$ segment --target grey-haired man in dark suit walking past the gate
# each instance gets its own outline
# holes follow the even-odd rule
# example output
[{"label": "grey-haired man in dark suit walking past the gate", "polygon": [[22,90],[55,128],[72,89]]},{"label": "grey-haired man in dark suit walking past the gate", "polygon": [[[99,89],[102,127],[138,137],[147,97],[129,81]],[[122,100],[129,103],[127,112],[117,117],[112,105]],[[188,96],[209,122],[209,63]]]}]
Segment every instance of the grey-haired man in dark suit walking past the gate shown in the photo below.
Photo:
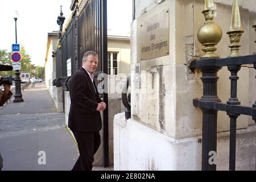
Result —
[{"label": "grey-haired man in dark suit walking past the gate", "polygon": [[85,52],[82,58],[82,68],[75,72],[69,80],[71,106],[68,127],[76,138],[80,153],[72,171],[91,171],[93,155],[101,143],[100,111],[106,109],[106,104],[99,97],[93,82],[93,73],[96,72],[97,66],[97,53]]}]

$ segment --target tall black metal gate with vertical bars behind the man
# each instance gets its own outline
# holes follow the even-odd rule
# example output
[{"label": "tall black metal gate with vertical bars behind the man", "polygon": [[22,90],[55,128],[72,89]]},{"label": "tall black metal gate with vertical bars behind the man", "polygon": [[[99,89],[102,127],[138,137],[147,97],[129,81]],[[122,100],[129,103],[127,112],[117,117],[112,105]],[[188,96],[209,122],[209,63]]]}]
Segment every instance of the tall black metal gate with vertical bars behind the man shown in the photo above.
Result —
[{"label": "tall black metal gate with vertical bars behind the man", "polygon": [[[56,86],[68,90],[67,82],[71,74],[80,69],[82,56],[86,51],[98,53],[100,65],[98,73],[107,73],[107,1],[105,0],[77,0],[72,1],[72,15],[68,19],[68,26],[61,32],[65,17],[62,12],[57,23],[60,25],[59,43],[56,49]],[[67,60],[71,59],[67,67]],[[70,74],[71,73],[71,74]],[[96,74],[96,84],[97,82]],[[108,90],[108,80],[104,81],[104,90]],[[108,132],[108,93],[101,94],[107,107],[103,114],[104,123],[104,166],[109,166],[109,132]],[[64,101],[64,100],[63,100]]]}]

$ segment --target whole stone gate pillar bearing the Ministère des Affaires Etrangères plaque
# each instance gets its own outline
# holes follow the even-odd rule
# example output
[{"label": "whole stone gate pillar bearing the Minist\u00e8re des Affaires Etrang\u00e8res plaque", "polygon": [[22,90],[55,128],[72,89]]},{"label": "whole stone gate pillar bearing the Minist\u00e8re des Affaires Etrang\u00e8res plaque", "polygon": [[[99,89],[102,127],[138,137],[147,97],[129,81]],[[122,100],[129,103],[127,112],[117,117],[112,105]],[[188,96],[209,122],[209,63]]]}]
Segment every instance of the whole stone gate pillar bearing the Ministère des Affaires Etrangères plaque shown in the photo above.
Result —
[{"label": "whole stone gate pillar bearing the Minist\u00e8re des Affaires Etrang\u00e8res plaque", "polygon": [[[228,31],[230,19],[223,17],[230,17],[232,3],[217,2],[214,21]],[[135,1],[135,20],[131,24],[131,118],[126,120],[125,113],[114,118],[115,170],[201,170],[203,115],[192,100],[203,95],[203,83],[201,73],[192,73],[189,64],[202,53],[197,31],[205,22],[203,9],[204,1],[200,0]],[[242,9],[241,16],[247,24],[243,26],[247,27],[245,31],[251,34],[254,30],[250,22],[255,14]],[[245,37],[241,44],[253,45],[249,34]],[[218,55],[228,56],[228,45],[226,35],[218,44]],[[252,50],[241,49],[241,53],[249,55]],[[219,77],[226,74],[228,70],[224,69]],[[249,80],[255,78],[250,77],[248,68],[242,68],[240,74],[241,80],[245,80],[239,83],[243,88],[240,100],[248,104]],[[228,100],[230,93],[226,79],[218,81],[218,93],[223,100]],[[248,117],[240,118],[237,129],[245,130],[237,140],[250,140],[248,146],[240,147],[247,147],[247,152],[254,154],[256,127],[250,123]],[[228,170],[229,158],[225,155],[229,148],[224,147],[229,145],[229,133],[225,132],[228,125],[228,115],[218,114],[217,169]],[[237,165],[241,169],[246,165],[247,169],[253,168],[250,160],[255,161],[255,155],[244,159],[249,152],[243,151],[237,156],[246,164]]]}]

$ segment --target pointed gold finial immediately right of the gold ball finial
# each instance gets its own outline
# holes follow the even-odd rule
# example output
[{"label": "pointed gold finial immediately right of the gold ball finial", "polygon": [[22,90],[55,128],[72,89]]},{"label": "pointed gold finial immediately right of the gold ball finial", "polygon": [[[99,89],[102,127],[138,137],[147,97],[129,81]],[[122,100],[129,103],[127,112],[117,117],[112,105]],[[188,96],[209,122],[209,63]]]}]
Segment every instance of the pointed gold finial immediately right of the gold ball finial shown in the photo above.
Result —
[{"label": "pointed gold finial immediately right of the gold ball finial", "polygon": [[240,56],[239,48],[241,36],[245,32],[243,30],[242,24],[241,24],[241,18],[240,18],[240,10],[238,5],[238,0],[233,0],[233,7],[232,7],[232,15],[230,19],[230,27],[227,34],[229,35],[230,39],[230,49],[231,53],[229,57],[237,57]]}]

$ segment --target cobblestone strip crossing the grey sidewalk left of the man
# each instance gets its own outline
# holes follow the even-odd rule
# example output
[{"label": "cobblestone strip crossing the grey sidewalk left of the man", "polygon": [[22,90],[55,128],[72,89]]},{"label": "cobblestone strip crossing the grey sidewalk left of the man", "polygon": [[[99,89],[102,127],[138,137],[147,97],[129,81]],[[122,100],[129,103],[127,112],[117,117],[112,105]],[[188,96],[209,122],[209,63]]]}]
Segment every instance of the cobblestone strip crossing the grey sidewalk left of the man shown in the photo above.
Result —
[{"label": "cobblestone strip crossing the grey sidewalk left of the man", "polygon": [[64,121],[64,113],[1,115],[0,138],[58,129]]}]

